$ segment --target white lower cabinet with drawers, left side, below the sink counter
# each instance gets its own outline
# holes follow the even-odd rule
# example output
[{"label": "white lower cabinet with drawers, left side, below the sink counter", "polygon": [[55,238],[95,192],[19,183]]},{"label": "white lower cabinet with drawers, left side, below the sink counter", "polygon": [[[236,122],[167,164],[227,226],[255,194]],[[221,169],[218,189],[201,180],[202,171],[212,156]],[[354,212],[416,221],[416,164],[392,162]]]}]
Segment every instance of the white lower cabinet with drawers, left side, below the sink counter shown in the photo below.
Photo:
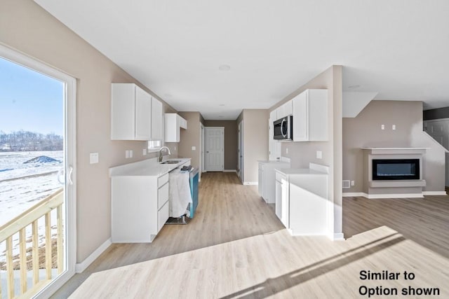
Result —
[{"label": "white lower cabinet with drawers, left side, below the sink counter", "polygon": [[168,219],[168,175],[112,177],[113,243],[153,241]]}]

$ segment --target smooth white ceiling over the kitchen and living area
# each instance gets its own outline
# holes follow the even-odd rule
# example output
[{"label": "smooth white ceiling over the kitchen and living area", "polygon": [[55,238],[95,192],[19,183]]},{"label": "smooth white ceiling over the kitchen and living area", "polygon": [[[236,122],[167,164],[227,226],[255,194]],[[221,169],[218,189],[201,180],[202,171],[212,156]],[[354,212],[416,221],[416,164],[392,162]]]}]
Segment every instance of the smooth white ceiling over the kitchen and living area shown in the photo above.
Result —
[{"label": "smooth white ceiling over the kitchen and living area", "polygon": [[344,66],[343,90],[449,106],[447,0],[35,1],[208,120],[267,109],[332,64]]}]

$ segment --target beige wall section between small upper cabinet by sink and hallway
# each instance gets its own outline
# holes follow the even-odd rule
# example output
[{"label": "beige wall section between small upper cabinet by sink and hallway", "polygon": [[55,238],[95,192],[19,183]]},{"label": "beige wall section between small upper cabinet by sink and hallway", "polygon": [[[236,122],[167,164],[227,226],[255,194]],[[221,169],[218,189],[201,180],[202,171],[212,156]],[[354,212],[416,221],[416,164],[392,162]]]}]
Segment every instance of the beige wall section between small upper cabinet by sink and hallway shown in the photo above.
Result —
[{"label": "beige wall section between small upper cabinet by sink and hallway", "polygon": [[[187,120],[187,130],[181,129],[177,155],[180,158],[192,158],[192,167],[199,167],[201,162],[200,123],[203,117],[199,112],[180,112],[180,116]],[[195,151],[192,151],[192,146],[195,146]]]}]

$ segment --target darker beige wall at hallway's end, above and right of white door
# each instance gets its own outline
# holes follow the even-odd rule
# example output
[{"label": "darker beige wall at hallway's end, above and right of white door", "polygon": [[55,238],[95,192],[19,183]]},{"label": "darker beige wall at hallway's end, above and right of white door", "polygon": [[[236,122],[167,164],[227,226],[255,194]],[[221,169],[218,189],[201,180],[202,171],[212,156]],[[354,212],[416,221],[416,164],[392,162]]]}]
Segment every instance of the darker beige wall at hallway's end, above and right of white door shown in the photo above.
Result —
[{"label": "darker beige wall at hallway's end, above and right of white door", "polygon": [[237,169],[237,124],[235,120],[205,120],[205,127],[225,127],[225,169]]}]

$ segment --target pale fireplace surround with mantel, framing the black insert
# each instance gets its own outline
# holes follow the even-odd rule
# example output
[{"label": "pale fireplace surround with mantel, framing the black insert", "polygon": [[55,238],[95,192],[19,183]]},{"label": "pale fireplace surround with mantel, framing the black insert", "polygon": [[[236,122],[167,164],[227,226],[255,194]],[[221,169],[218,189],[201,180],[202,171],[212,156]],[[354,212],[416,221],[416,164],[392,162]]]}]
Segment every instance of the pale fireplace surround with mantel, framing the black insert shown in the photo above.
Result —
[{"label": "pale fireplace surround with mantel, framing the black insert", "polygon": [[[364,184],[368,198],[422,197],[426,181],[422,179],[422,157],[427,148],[362,148],[365,165]],[[377,159],[418,159],[420,160],[420,179],[373,180],[373,160]],[[370,196],[371,195],[371,196]]]}]

